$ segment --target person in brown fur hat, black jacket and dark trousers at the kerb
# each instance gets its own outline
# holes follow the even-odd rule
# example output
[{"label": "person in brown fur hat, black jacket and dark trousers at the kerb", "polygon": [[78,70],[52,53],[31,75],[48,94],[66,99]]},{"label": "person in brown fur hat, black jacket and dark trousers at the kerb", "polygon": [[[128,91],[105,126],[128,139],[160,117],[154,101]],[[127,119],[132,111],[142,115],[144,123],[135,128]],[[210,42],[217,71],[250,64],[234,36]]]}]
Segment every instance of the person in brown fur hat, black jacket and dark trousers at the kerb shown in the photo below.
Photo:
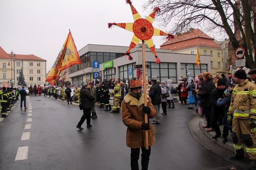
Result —
[{"label": "person in brown fur hat, black jacket and dark trousers at the kerb", "polygon": [[211,122],[212,115],[212,104],[211,104],[211,92],[215,89],[215,84],[212,80],[212,74],[209,72],[203,73],[203,86],[201,87],[201,91],[198,93],[198,96],[201,97],[201,106],[205,112],[205,116],[207,117],[207,125],[203,126],[203,128],[209,128],[207,132],[213,131],[213,126]]}]

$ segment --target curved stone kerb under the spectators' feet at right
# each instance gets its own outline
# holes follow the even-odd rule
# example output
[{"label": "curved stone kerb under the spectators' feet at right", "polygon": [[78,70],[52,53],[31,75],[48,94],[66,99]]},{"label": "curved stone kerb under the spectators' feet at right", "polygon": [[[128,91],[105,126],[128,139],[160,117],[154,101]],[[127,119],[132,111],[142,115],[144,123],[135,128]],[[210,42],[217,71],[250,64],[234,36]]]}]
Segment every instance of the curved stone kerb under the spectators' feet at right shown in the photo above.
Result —
[{"label": "curved stone kerb under the spectators' feet at right", "polygon": [[[215,132],[214,132],[214,131],[213,131],[213,132],[207,132],[207,131],[206,131],[207,129],[205,129],[205,128],[202,127],[202,126],[205,126],[205,125],[206,125],[206,124],[205,124],[204,120],[200,120],[199,126],[200,126],[202,132],[203,132],[210,140],[212,140],[213,142],[217,143],[219,146],[221,146],[221,147],[223,147],[223,148],[225,148],[225,149],[227,149],[227,150],[229,150],[229,151],[231,151],[231,152],[234,152],[234,147],[233,147],[233,143],[232,143],[232,142],[229,142],[229,141],[228,141],[228,142],[226,142],[226,143],[223,143],[223,142],[222,142],[222,136],[217,137],[216,139],[212,139],[212,137],[215,135]],[[249,159],[248,154],[247,154],[245,148],[244,148],[244,158]]]}]

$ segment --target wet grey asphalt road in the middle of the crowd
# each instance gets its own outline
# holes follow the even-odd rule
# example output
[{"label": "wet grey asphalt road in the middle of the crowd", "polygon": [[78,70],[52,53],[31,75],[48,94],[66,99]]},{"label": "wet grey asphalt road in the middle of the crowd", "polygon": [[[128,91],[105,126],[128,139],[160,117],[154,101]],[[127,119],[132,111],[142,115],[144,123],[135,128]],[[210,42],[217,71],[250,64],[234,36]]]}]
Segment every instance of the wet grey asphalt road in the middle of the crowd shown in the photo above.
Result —
[{"label": "wet grey asphalt road in the middle of the crowd", "polygon": [[[78,105],[30,96],[27,107],[20,110],[18,102],[0,123],[0,169],[130,169],[130,148],[120,113],[96,107],[98,119],[91,120],[93,127],[86,128],[85,122],[84,130],[79,130],[75,126],[83,113]],[[154,125],[156,142],[149,169],[246,169],[248,161],[228,160],[233,153],[207,139],[199,125],[190,122],[197,114],[186,108],[175,102],[175,109],[168,109],[160,124]],[[26,124],[31,129],[25,129]],[[24,132],[30,132],[29,139],[21,140]],[[15,160],[18,148],[24,146],[27,159]]]}]

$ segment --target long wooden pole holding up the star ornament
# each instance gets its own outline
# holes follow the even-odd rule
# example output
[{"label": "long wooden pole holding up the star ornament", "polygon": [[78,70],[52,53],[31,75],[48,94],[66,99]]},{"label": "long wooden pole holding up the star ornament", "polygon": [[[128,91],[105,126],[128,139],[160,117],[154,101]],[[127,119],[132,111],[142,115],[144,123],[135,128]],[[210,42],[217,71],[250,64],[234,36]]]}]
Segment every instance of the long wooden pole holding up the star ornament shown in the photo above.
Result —
[{"label": "long wooden pole holding up the star ornament", "polygon": [[[145,42],[142,40],[142,70],[143,70],[143,94],[144,94],[144,106],[147,106],[147,85],[146,85],[146,60],[145,60]],[[147,114],[145,113],[145,123],[147,123]],[[148,130],[145,131],[145,148],[148,149]]]}]

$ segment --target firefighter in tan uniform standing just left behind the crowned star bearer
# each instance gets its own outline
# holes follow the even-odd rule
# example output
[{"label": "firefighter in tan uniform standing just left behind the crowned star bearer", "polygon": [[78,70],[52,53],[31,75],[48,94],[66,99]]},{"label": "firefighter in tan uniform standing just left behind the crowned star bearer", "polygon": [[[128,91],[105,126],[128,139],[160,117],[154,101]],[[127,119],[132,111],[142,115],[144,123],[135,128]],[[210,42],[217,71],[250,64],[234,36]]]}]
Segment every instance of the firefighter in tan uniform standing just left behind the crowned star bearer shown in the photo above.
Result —
[{"label": "firefighter in tan uniform standing just left behind the crowned star bearer", "polygon": [[114,96],[114,105],[113,105],[113,110],[110,113],[120,113],[120,106],[119,106],[119,101],[121,98],[121,86],[119,84],[118,79],[114,81],[115,87],[113,89],[113,92],[111,95]]}]

